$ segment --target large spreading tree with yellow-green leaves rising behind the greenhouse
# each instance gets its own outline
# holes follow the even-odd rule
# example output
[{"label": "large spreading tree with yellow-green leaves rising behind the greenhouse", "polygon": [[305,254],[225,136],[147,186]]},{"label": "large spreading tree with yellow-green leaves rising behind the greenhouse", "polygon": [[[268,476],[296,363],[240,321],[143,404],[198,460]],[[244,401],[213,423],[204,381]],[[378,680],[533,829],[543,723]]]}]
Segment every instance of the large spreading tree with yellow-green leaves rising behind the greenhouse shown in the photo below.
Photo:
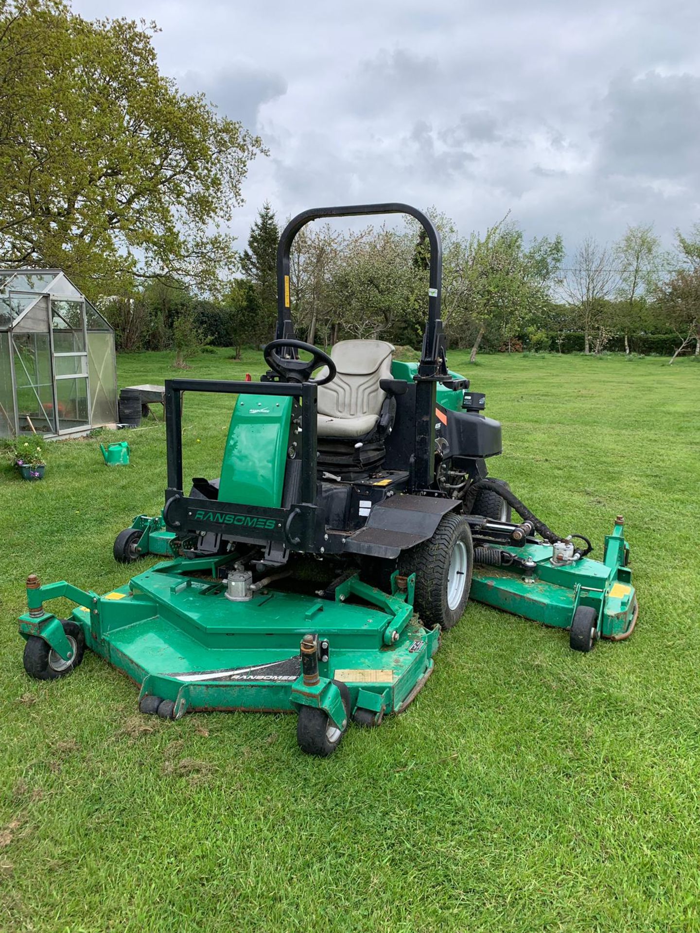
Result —
[{"label": "large spreading tree with yellow-green leaves rising behind the greenhouse", "polygon": [[0,0],[0,261],[94,292],[134,276],[217,285],[260,140],[161,75],[154,25]]}]

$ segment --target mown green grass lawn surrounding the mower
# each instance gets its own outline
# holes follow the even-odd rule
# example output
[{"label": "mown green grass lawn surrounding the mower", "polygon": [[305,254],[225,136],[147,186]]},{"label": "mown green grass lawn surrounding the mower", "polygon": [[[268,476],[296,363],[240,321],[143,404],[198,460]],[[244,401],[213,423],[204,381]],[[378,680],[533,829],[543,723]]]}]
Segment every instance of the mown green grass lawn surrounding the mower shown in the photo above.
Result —
[{"label": "mown green grass lawn surrounding the mower", "polygon": [[[259,355],[189,375],[258,375]],[[122,355],[161,383],[172,355]],[[469,604],[408,712],[301,754],[291,716],[165,723],[90,652],[29,680],[24,578],[105,592],[112,542],[161,508],[164,428],[50,445],[0,468],[0,930],[700,929],[700,366],[609,356],[450,357],[487,393],[492,472],[602,557],[623,513],[640,613],[590,655]],[[185,476],[218,476],[231,399],[186,397]],[[103,438],[104,440],[105,438]],[[153,559],[154,560],[154,559]],[[140,568],[145,568],[141,564]]]}]

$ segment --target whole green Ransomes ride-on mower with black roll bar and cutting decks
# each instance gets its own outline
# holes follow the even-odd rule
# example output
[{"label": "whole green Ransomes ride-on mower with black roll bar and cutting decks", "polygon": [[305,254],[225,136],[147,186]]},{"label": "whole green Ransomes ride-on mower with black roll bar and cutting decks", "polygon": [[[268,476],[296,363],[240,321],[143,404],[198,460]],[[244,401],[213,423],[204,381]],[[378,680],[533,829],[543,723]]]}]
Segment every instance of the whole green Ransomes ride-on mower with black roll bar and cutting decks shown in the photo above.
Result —
[{"label": "whole green Ransomes ride-on mower with black roll bar and cutting decks", "polygon": [[[385,341],[341,341],[327,355],[296,340],[295,235],[319,217],[389,213],[415,217],[430,244],[420,362],[393,359]],[[301,749],[326,756],[351,720],[378,726],[406,709],[469,595],[568,629],[580,651],[629,635],[637,600],[622,518],[598,563],[586,538],[555,535],[487,478],[501,429],[483,415],[483,395],[447,369],[441,261],[438,231],[407,204],[294,217],[278,247],[277,332],[259,383],[166,383],[165,506],[136,518],[115,556],[170,559],[104,595],[28,578],[27,673],[66,675],[91,648],[139,685],[143,713],[296,711]],[[220,477],[196,478],[189,492],[185,392],[227,394],[232,412]],[[44,608],[56,597],[76,604],[69,619]]]}]

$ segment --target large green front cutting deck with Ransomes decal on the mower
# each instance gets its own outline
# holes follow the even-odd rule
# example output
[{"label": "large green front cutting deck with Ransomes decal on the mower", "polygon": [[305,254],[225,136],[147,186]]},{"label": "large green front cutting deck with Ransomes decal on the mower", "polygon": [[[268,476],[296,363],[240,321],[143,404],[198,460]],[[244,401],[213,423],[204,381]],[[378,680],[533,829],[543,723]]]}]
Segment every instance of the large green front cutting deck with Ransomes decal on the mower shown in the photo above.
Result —
[{"label": "large green front cutting deck with Ransomes decal on the mower", "polygon": [[[193,710],[307,705],[323,709],[344,730],[348,714],[339,683],[349,691],[349,713],[373,725],[385,712],[404,709],[430,675],[439,633],[413,617],[413,578],[399,578],[404,590],[395,586],[393,595],[352,576],[332,600],[262,588],[231,605],[217,579],[227,563],[231,558],[157,564],[104,596],[64,582],[29,588],[21,634],[38,635],[69,660],[63,626],[42,606],[67,596],[79,604],[70,620],[86,647],[139,684],[141,700],[173,703],[165,707],[173,718]],[[301,671],[307,634],[317,645],[315,676]]]}]

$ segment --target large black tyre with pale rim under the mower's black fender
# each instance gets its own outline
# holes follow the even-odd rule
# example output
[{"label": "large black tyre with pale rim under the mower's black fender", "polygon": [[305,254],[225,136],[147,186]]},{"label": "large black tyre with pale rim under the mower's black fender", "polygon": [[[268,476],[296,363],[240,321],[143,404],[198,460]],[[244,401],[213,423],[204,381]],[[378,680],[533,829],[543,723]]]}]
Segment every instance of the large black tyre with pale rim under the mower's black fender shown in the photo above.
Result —
[{"label": "large black tyre with pale rim under the mower's black fender", "polygon": [[415,574],[415,611],[427,629],[451,629],[469,600],[474,547],[469,522],[444,515],[435,534],[399,558],[402,574]]}]

